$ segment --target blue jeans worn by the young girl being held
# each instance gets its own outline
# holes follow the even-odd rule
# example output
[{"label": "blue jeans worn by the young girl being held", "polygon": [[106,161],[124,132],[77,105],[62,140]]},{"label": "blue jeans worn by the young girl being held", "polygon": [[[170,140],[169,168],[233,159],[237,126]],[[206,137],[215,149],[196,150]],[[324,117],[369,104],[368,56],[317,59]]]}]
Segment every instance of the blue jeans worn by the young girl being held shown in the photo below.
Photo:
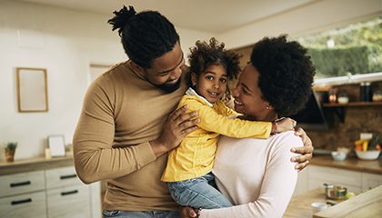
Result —
[{"label": "blue jeans worn by the young girl being held", "polygon": [[232,204],[216,188],[215,175],[207,173],[202,177],[167,183],[176,203],[193,208],[221,208]]}]

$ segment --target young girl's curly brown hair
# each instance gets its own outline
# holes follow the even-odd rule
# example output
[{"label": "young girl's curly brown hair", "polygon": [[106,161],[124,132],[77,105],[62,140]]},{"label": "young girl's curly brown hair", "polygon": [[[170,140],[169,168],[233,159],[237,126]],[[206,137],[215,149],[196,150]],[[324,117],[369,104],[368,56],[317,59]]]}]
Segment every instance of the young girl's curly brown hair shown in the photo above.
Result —
[{"label": "young girl's curly brown hair", "polygon": [[[195,73],[197,77],[206,71],[210,65],[223,65],[226,68],[228,80],[237,79],[241,72],[240,58],[243,54],[236,53],[234,50],[225,49],[225,44],[212,37],[209,44],[198,40],[195,47],[190,48],[188,54],[188,63],[190,64],[190,72],[186,74],[186,81],[192,86],[191,74]],[[226,99],[230,99],[231,92],[228,84],[226,85]]]}]

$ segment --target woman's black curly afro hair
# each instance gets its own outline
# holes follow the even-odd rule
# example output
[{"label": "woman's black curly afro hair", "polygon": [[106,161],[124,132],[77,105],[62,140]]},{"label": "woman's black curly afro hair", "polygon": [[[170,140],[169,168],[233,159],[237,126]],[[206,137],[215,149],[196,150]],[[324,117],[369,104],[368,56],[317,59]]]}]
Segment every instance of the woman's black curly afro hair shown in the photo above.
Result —
[{"label": "woman's black curly afro hair", "polygon": [[258,87],[262,98],[275,107],[279,115],[297,114],[305,107],[316,74],[307,48],[287,35],[265,37],[251,54],[251,63],[259,73]]}]

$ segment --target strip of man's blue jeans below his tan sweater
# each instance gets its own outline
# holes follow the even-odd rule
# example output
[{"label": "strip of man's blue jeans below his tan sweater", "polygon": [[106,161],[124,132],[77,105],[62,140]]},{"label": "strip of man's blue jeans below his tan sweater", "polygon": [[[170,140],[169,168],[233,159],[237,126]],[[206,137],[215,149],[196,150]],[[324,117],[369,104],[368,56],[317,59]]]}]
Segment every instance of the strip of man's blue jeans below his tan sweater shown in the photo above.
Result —
[{"label": "strip of man's blue jeans below his tan sweater", "polygon": [[177,211],[151,211],[151,212],[131,212],[131,211],[106,211],[102,213],[103,218],[180,218]]}]

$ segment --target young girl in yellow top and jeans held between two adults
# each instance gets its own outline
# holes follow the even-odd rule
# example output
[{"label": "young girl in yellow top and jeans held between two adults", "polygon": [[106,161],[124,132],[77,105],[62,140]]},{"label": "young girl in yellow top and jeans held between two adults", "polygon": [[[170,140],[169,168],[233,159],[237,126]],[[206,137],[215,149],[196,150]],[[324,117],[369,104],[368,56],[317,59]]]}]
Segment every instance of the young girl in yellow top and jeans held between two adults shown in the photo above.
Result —
[{"label": "young girl in yellow top and jeans held between two adults", "polygon": [[229,97],[227,81],[237,78],[240,72],[241,54],[226,50],[211,38],[196,42],[188,55],[192,73],[186,74],[190,88],[182,97],[178,108],[188,104],[188,111],[197,111],[201,122],[198,129],[186,135],[182,143],[168,153],[162,181],[168,183],[176,203],[193,208],[220,208],[232,206],[226,197],[216,190],[211,173],[219,134],[237,138],[263,138],[293,130],[291,119],[274,122],[251,122],[228,119],[237,115],[226,107],[222,99]]}]

